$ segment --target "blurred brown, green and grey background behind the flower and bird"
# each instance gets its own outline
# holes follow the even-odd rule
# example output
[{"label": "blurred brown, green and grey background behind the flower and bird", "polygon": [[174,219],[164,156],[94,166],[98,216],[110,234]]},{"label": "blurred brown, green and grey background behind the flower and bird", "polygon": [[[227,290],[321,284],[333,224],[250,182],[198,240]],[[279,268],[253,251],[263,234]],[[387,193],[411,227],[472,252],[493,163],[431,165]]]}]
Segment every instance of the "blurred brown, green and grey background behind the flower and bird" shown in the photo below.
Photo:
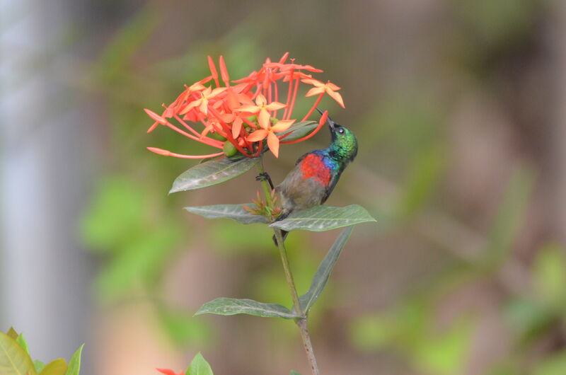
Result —
[{"label": "blurred brown, green and grey background behind the flower and bird", "polygon": [[[167,195],[206,153],[143,108],[224,55],[324,70],[359,139],[329,204],[362,224],[311,314],[323,374],[566,374],[566,2],[0,2],[0,328],[84,374],[308,373],[296,328],[192,318],[218,296],[290,304],[270,233],[182,207],[249,202],[253,173]],[[267,168],[282,180],[323,132]],[[292,233],[299,289],[337,231]]]}]

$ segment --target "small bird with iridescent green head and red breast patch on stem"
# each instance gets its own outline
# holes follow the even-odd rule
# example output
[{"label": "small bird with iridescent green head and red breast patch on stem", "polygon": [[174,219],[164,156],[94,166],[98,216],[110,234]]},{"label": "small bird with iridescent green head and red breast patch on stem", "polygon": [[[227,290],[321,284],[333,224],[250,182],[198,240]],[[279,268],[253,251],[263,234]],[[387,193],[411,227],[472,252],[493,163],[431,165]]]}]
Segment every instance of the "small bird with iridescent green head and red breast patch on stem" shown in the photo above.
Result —
[{"label": "small bird with iridescent green head and red breast patch on stem", "polygon": [[[282,208],[275,221],[326,202],[346,166],[357,156],[358,142],[352,130],[337,124],[330,117],[326,122],[330,128],[330,146],[301,156],[287,177],[275,188],[275,196]],[[267,178],[273,188],[269,176]],[[283,239],[287,234],[287,231],[282,231]],[[277,245],[275,236],[273,241]]]}]

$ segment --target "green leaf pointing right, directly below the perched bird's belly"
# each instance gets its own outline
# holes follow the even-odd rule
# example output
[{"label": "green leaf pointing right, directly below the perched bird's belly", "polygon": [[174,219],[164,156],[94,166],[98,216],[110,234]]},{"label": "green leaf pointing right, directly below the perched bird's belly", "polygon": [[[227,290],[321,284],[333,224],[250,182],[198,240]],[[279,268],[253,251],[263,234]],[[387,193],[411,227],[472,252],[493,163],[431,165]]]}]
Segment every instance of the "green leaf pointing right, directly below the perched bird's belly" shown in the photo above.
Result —
[{"label": "green leaf pointing right, directly below the perched bird's belly", "polygon": [[376,219],[371,217],[364,207],[357,204],[350,204],[350,206],[346,207],[320,205],[294,212],[287,219],[275,221],[270,227],[283,229],[284,231],[304,229],[306,231],[321,232],[366,221],[376,221]]}]

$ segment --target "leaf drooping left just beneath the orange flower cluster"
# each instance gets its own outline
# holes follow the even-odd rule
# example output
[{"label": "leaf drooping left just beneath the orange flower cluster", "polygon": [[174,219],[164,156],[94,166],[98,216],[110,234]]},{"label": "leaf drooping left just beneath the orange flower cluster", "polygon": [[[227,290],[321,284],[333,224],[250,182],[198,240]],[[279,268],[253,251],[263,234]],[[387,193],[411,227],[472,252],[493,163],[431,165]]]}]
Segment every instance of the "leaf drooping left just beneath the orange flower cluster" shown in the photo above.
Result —
[{"label": "leaf drooping left just beneath the orange flower cluster", "polygon": [[246,173],[259,161],[260,158],[243,158],[238,161],[221,158],[197,164],[173,181],[173,188],[169,190],[169,194],[224,183],[242,173]]}]

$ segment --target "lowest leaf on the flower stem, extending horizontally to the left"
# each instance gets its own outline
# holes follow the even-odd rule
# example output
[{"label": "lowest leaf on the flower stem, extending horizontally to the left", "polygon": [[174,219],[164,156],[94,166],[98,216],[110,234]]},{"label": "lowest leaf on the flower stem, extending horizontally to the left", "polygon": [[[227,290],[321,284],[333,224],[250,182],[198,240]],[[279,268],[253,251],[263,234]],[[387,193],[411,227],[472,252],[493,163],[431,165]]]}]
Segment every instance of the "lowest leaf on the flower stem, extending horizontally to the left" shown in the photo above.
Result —
[{"label": "lowest leaf on the flower stem, extending horizontally to the left", "polygon": [[195,316],[205,313],[216,315],[236,315],[248,314],[254,316],[263,316],[267,318],[284,318],[294,319],[300,318],[289,310],[289,308],[279,304],[263,304],[253,299],[235,299],[235,298],[217,298],[206,304],[195,313]]}]

